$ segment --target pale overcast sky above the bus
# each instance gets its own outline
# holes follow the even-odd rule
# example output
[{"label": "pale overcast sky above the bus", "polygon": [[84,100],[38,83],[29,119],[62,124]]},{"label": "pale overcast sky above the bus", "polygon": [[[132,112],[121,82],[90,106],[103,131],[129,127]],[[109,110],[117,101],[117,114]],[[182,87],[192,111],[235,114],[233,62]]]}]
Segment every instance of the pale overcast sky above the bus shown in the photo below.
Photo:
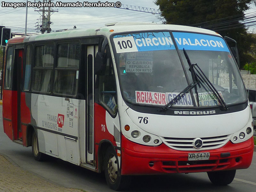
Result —
[{"label": "pale overcast sky above the bus", "polygon": [[[34,2],[35,0],[28,0]],[[41,0],[43,2],[43,0]],[[59,0],[52,1],[53,3],[58,2]],[[72,3],[72,2],[84,2],[86,0],[62,0],[61,2]],[[102,0],[101,2],[121,2],[122,4],[132,4],[141,7],[156,8],[153,0],[138,0],[138,1],[128,1],[128,0]],[[6,3],[18,3],[26,2],[26,0],[5,0]],[[38,0],[36,0],[38,2]],[[98,1],[88,1],[88,2],[98,2]],[[41,8],[42,9],[42,8]],[[105,23],[115,22],[115,21],[143,21],[143,22],[156,22],[161,23],[158,19],[159,15],[124,10],[112,7],[52,7],[53,10],[58,10],[51,15],[51,25],[52,30],[63,29],[63,28],[73,28],[76,25],[76,28],[94,28],[104,26]],[[36,25],[40,18],[40,13],[35,10],[38,8],[29,7],[28,8],[28,33],[36,33]],[[255,11],[255,6],[251,6],[250,11]],[[12,32],[24,32],[25,31],[25,16],[26,8],[8,8],[0,7],[0,25],[12,28]],[[40,24],[40,22],[39,22]],[[250,28],[250,31],[254,31],[254,27]],[[38,32],[40,32],[38,30]]]}]

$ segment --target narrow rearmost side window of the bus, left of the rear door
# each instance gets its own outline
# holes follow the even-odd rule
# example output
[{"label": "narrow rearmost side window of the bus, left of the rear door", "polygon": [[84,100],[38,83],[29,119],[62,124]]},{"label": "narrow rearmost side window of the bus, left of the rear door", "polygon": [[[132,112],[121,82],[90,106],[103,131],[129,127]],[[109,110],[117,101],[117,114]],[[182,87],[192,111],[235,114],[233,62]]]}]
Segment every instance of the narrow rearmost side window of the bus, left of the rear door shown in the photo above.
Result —
[{"label": "narrow rearmost side window of the bus, left of the rear door", "polygon": [[6,72],[5,72],[5,81],[4,88],[9,89],[11,87],[11,76],[12,76],[12,53],[13,47],[8,47],[6,53]]}]

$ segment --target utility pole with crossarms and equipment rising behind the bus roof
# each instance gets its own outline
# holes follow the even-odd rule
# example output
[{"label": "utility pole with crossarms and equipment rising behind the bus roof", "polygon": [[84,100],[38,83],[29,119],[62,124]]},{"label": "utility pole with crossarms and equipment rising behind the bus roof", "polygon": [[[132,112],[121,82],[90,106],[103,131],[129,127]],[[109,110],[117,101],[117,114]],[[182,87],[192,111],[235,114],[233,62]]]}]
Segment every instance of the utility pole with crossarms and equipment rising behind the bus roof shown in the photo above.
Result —
[{"label": "utility pole with crossarms and equipment rising behind the bus roof", "polygon": [[48,10],[45,10],[45,7],[43,7],[43,9],[35,10],[37,12],[42,12],[42,24],[37,25],[37,28],[40,29],[42,34],[44,34],[45,31],[47,31],[47,33],[50,33],[52,31],[51,24],[53,23],[51,22],[51,13],[59,12],[59,11],[51,10],[51,4],[50,4],[51,2],[52,2],[51,0],[43,0],[43,3],[49,3]]}]

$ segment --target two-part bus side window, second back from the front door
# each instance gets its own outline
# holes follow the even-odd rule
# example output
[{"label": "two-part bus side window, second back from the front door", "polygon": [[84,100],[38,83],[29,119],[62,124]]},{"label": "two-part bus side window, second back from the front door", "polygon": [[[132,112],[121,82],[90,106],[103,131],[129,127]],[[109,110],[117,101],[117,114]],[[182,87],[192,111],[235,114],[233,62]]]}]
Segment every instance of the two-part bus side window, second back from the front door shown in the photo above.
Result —
[{"label": "two-part bus side window, second back from the front door", "polygon": [[51,92],[54,45],[36,46],[36,63],[33,68],[32,91]]}]

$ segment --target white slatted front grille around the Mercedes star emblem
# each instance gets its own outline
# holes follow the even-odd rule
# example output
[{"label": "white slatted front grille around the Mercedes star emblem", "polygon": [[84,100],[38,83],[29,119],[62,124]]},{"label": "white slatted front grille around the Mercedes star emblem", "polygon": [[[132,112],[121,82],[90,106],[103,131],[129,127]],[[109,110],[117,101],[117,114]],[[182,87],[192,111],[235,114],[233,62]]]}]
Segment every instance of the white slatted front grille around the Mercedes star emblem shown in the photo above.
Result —
[{"label": "white slatted front grille around the Mercedes star emblem", "polygon": [[196,138],[172,138],[161,137],[162,141],[170,148],[181,151],[201,151],[217,149],[224,146],[231,138],[231,135],[222,135],[218,137],[204,137],[203,146],[200,149],[194,147]]}]

